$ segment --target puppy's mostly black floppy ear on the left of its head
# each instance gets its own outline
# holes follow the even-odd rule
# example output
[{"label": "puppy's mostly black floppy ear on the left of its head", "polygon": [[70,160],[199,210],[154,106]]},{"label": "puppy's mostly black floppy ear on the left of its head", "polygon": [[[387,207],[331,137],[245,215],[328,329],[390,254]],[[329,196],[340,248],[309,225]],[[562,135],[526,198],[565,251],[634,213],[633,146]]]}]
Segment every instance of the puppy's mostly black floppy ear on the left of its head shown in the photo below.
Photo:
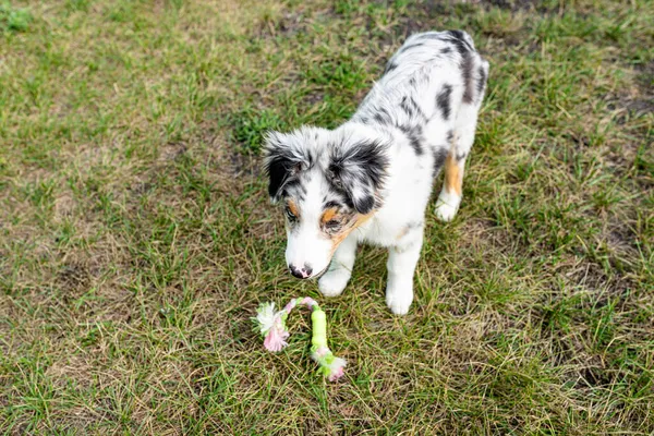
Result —
[{"label": "puppy's mostly black floppy ear on the left of its head", "polygon": [[283,187],[308,166],[298,138],[291,134],[268,132],[264,144],[264,169],[270,178],[268,194],[276,203]]}]

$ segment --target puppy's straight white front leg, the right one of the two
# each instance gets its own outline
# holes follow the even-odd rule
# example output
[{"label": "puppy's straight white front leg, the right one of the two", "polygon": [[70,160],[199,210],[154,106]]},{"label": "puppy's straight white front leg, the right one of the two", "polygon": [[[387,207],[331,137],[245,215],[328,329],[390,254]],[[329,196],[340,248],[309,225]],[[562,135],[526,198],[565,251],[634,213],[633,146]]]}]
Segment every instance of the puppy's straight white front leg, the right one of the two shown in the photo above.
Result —
[{"label": "puppy's straight white front leg, the right one of the two", "polygon": [[423,243],[423,225],[410,231],[388,250],[386,304],[396,315],[405,315],[413,302],[413,274]]}]

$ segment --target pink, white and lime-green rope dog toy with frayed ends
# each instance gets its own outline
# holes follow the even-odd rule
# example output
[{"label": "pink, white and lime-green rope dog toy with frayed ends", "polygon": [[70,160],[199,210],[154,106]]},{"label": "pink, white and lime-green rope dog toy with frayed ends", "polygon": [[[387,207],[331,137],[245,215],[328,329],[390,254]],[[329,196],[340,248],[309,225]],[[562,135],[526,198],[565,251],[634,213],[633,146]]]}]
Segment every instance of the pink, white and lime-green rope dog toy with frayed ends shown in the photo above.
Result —
[{"label": "pink, white and lime-green rope dog toy with frayed ends", "polygon": [[335,356],[327,347],[327,316],[314,299],[308,296],[293,299],[278,312],[275,311],[275,303],[259,305],[256,317],[252,319],[264,336],[264,347],[268,351],[277,352],[288,346],[286,340],[290,334],[286,328],[286,319],[298,304],[304,304],[312,310],[311,358],[319,365],[318,374],[323,374],[329,378],[329,382],[334,382],[343,375],[343,367],[347,363],[343,359]]}]

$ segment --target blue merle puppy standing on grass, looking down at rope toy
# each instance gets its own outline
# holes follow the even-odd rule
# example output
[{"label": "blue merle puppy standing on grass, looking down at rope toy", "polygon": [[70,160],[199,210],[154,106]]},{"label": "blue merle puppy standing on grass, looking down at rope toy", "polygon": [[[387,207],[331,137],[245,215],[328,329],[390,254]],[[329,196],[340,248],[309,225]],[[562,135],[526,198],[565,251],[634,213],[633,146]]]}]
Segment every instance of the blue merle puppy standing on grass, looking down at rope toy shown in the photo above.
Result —
[{"label": "blue merle puppy standing on grass, looking down at rope toy", "polygon": [[411,36],[351,120],[336,130],[271,132],[265,167],[287,215],[287,264],[295,277],[327,271],[323,294],[339,295],[361,242],[388,247],[386,303],[405,314],[434,178],[445,168],[436,216],[459,203],[488,63],[461,31]]}]

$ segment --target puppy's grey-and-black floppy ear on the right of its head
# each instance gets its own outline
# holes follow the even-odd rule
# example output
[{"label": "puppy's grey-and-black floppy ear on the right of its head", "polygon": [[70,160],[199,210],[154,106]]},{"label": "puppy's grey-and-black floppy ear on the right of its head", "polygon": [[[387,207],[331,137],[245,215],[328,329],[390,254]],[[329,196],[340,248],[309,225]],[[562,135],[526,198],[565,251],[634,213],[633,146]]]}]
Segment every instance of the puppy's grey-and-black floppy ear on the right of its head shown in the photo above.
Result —
[{"label": "puppy's grey-and-black floppy ear on the right of its head", "polygon": [[368,214],[379,206],[377,194],[386,178],[387,148],[378,141],[361,141],[332,150],[331,182],[346,192],[360,214]]}]

